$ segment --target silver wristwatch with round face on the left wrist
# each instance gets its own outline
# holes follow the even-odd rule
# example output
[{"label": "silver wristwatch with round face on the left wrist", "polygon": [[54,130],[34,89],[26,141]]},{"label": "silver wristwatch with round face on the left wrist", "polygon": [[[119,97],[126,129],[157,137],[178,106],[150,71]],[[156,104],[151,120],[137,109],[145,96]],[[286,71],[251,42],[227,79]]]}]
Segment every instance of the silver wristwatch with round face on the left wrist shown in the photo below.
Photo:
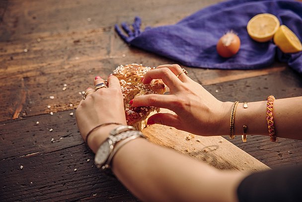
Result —
[{"label": "silver wristwatch with round face on the left wrist", "polygon": [[[134,133],[129,133],[130,130],[132,131],[132,130],[136,130],[136,129],[135,129],[135,127],[132,127],[132,126],[120,125],[120,126],[115,127],[110,132],[109,137],[106,139],[106,141],[103,144],[101,144],[101,146],[98,148],[97,152],[95,153],[94,163],[98,168],[105,169],[105,168],[109,167],[108,164],[110,162],[108,163],[107,160],[113,152],[114,145],[123,139],[126,139],[128,137],[135,135]],[[126,132],[126,131],[128,131],[128,132]],[[133,132],[138,132],[138,131],[133,131]],[[111,157],[111,159],[112,159],[112,157]]]}]

